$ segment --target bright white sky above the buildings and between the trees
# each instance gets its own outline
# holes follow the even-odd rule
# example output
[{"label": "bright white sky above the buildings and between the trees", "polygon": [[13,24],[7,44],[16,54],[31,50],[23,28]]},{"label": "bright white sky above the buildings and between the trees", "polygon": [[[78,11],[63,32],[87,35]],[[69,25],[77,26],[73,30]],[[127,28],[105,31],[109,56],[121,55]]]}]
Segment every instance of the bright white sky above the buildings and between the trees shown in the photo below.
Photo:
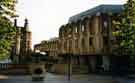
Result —
[{"label": "bright white sky above the buildings and between the trees", "polygon": [[58,37],[59,28],[69,17],[100,4],[124,4],[127,0],[18,0],[18,25],[28,18],[32,45]]}]

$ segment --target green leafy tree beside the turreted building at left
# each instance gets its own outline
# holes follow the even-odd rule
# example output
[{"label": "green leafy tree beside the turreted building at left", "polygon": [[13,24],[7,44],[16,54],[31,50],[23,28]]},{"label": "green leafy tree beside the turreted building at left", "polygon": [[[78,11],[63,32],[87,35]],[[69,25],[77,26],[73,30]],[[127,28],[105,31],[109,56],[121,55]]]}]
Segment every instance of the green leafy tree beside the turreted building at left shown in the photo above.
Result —
[{"label": "green leafy tree beside the turreted building at left", "polygon": [[11,19],[16,16],[16,0],[0,0],[0,60],[9,57],[14,43],[15,27]]}]

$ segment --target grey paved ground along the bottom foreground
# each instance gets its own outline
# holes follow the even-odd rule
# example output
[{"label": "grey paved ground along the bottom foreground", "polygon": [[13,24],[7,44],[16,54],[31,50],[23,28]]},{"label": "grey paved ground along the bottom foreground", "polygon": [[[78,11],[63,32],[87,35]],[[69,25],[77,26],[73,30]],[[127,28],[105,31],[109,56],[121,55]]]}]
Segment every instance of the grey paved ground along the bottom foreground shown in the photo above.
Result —
[{"label": "grey paved ground along the bottom foreground", "polygon": [[101,75],[72,75],[68,80],[66,75],[47,73],[43,81],[32,81],[31,76],[0,76],[0,83],[134,83],[134,79],[101,76]]}]

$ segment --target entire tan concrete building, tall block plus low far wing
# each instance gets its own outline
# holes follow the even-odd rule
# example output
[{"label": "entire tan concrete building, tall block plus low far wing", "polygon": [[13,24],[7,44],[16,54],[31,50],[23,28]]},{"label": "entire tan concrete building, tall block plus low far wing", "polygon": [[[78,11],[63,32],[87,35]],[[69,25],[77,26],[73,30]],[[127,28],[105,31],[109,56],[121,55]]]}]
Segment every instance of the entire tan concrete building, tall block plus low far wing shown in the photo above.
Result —
[{"label": "entire tan concrete building, tall block plus low far wing", "polygon": [[117,38],[112,34],[116,31],[114,20],[120,19],[123,9],[123,5],[99,5],[74,15],[60,27],[58,38],[42,41],[35,49],[59,55],[65,64],[79,66],[75,69],[87,66],[90,72],[111,71],[127,64],[125,56],[115,53]]}]

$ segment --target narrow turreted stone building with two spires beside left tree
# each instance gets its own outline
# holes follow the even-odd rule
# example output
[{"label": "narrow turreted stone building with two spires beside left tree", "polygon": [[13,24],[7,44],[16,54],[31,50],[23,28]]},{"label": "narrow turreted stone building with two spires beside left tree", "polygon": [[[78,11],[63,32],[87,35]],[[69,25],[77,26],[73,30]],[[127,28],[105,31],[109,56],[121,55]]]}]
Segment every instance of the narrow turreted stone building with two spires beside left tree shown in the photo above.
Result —
[{"label": "narrow turreted stone building with two spires beside left tree", "polygon": [[31,36],[32,33],[29,30],[28,20],[25,19],[24,26],[18,26],[17,20],[14,21],[16,27],[15,44],[12,49],[13,62],[20,63],[25,62],[31,57]]}]

